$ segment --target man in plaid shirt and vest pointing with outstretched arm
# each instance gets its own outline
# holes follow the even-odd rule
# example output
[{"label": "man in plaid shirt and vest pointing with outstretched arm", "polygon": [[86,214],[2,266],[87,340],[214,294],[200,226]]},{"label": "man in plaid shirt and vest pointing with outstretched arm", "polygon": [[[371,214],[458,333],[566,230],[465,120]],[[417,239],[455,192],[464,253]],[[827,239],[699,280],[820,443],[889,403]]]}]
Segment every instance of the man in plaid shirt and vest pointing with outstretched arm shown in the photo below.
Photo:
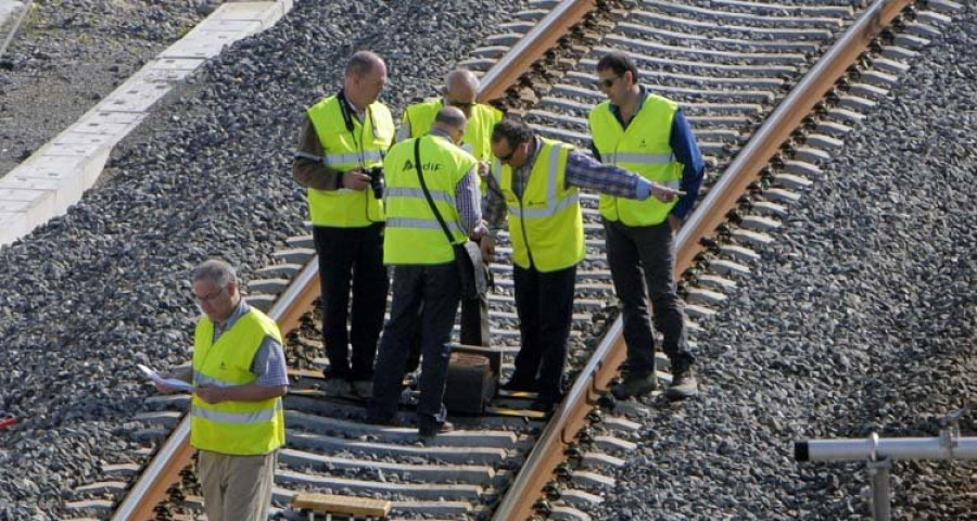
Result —
[{"label": "man in plaid shirt and vest pointing with outstretched arm", "polygon": [[498,161],[488,178],[490,234],[482,237],[482,255],[492,258],[495,234],[508,216],[522,341],[504,389],[536,391],[532,408],[550,412],[562,397],[576,265],[585,255],[578,190],[638,201],[671,201],[677,192],[541,138],[515,119],[495,125],[492,153]]}]

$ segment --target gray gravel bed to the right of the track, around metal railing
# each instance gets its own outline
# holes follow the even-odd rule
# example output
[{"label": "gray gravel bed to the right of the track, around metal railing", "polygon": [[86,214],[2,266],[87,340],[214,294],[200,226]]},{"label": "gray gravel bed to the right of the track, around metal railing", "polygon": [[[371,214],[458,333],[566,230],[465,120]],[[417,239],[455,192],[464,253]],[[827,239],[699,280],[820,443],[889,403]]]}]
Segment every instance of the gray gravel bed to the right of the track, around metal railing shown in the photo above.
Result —
[{"label": "gray gravel bed to the right of the track, around metal railing", "polygon": [[[594,519],[868,519],[864,465],[797,463],[792,443],[932,436],[974,398],[975,27],[970,5],[824,165],[697,339],[702,397],[648,402]],[[893,519],[975,519],[975,469],[898,462]]]}]

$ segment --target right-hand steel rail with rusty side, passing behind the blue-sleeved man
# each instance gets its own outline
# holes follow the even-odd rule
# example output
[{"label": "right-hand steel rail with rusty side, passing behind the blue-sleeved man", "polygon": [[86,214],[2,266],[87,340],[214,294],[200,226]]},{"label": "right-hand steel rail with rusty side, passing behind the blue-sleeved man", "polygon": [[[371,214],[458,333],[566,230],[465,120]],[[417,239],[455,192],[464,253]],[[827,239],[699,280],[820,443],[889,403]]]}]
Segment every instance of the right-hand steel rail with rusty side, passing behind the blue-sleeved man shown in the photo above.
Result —
[{"label": "right-hand steel rail with rusty side, passing behind the blue-sleeved man", "polygon": [[[774,110],[680,230],[676,238],[676,272],[683,274],[693,266],[695,256],[703,249],[701,239],[712,234],[725,221],[726,214],[736,206],[748,185],[759,177],[760,169],[770,162],[781,144],[881,29],[911,2],[876,1]],[[622,333],[623,322],[618,317],[580,372],[562,405],[554,412],[496,508],[493,520],[521,521],[533,514],[535,499],[543,496],[543,487],[556,479],[554,470],[566,459],[566,446],[586,424],[586,416],[596,407],[597,398],[607,391],[610,380],[617,376],[618,367],[626,357]]]}]

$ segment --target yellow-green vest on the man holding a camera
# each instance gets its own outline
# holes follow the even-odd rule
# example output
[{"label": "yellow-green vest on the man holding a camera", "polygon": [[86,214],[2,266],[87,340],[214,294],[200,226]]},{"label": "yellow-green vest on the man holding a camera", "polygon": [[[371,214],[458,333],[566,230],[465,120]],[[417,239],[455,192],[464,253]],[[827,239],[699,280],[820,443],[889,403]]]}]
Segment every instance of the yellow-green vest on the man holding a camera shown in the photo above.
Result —
[{"label": "yellow-green vest on the man holding a camera", "polygon": [[[393,142],[393,116],[379,102],[367,109],[363,124],[350,114],[352,130],[346,128],[338,96],[330,96],[310,106],[307,114],[322,143],[326,165],[340,171],[380,165],[383,153]],[[369,188],[363,191],[309,188],[308,211],[315,226],[364,228],[383,220],[383,204]]]}]

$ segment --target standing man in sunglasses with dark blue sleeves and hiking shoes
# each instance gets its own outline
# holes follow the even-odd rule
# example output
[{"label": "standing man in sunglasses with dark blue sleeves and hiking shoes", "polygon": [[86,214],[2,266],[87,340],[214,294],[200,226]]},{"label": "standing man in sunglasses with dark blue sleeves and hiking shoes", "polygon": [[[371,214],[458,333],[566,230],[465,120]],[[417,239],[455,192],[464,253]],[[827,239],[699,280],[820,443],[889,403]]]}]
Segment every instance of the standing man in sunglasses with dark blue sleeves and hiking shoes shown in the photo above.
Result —
[{"label": "standing man in sunglasses with dark blue sleeves and hiking shoes", "polygon": [[608,99],[589,114],[594,155],[682,192],[677,200],[650,204],[613,195],[600,198],[607,260],[623,307],[630,366],[624,381],[612,392],[624,399],[658,386],[650,300],[655,326],[664,336],[662,348],[671,363],[672,384],[665,396],[694,397],[698,394],[691,370],[695,358],[688,350],[685,312],[675,291],[673,233],[699,193],[702,154],[678,104],[640,86],[637,66],[627,55],[601,58],[597,76]]}]

